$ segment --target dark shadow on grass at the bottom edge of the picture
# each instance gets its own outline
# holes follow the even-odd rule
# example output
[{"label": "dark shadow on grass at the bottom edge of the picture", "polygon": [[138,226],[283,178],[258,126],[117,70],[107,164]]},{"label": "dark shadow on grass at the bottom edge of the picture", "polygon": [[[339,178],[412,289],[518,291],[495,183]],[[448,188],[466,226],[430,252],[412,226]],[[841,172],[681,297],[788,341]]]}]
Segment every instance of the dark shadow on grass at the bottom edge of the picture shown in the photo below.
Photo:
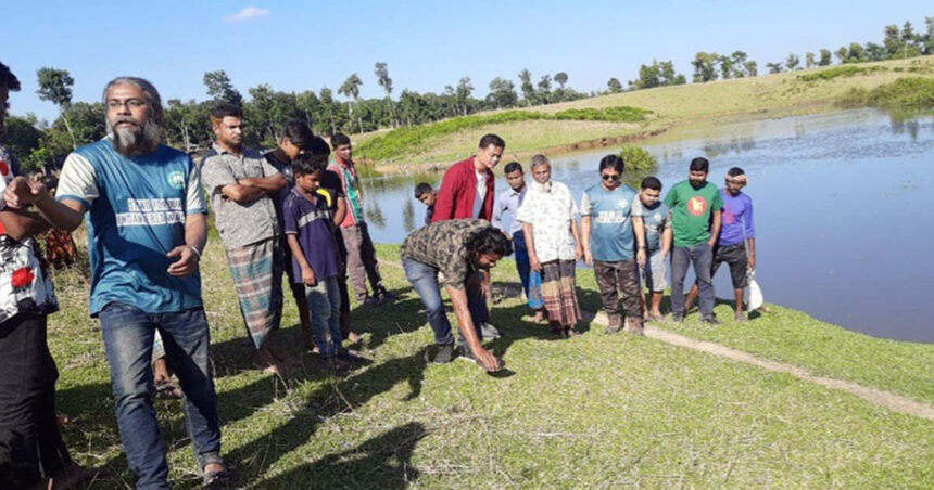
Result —
[{"label": "dark shadow on grass at the bottom edge of the picture", "polygon": [[419,472],[412,466],[416,444],[428,435],[418,422],[395,427],[354,449],[328,454],[275,478],[256,483],[256,488],[403,489],[415,481]]}]

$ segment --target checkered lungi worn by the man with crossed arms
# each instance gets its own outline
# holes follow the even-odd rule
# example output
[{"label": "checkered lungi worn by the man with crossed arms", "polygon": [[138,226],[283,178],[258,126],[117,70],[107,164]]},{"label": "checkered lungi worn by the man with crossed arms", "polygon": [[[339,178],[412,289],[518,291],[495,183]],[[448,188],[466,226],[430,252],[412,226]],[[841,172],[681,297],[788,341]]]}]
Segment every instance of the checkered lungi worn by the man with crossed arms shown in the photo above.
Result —
[{"label": "checkered lungi worn by the man with crossed arms", "polygon": [[256,348],[282,320],[282,256],[279,238],[227,250],[230,275],[237,286],[240,312]]}]

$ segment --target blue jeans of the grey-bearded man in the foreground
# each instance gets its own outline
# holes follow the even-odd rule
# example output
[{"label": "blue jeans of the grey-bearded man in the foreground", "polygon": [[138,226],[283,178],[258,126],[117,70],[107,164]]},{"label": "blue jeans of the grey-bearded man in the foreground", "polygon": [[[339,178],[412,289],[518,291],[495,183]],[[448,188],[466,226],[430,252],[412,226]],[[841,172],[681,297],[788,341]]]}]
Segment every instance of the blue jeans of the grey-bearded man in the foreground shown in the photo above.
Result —
[{"label": "blue jeans of the grey-bearded man in the foreground", "polygon": [[220,428],[217,396],[209,358],[211,343],[204,309],[147,313],[130,305],[111,302],[100,313],[111,369],[116,417],[137,489],[167,489],[168,464],[152,398],[152,341],[156,330],[168,366],[185,394],[185,422],[195,459],[219,457]]}]

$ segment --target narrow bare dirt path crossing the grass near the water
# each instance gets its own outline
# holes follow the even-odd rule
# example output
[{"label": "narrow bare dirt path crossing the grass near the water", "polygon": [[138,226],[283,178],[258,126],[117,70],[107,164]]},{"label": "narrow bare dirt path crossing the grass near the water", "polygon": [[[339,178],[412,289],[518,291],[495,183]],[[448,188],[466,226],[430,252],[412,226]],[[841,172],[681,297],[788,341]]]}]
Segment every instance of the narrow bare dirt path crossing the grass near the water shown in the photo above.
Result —
[{"label": "narrow bare dirt path crossing the grass near the water", "polygon": [[[391,260],[380,260],[380,262],[399,269],[402,268],[401,263]],[[604,326],[608,323],[606,313],[602,311],[594,313],[593,311],[584,310],[582,311],[582,313],[584,319],[589,322],[593,322]],[[809,373],[806,369],[794,364],[757,358],[748,352],[736,350],[721,344],[706,340],[697,340],[655,326],[647,326],[645,328],[645,336],[673,346],[685,347],[689,349],[707,352],[709,354],[717,356],[720,358],[727,358],[736,362],[755,365],[774,373],[791,374],[798,379],[815,383],[826,388],[848,391],[874,405],[883,407],[894,412],[905,413],[908,415],[926,418],[929,421],[934,421],[934,407],[889,391],[870,388],[868,386],[862,386],[858,383],[847,382],[844,379],[817,376]]]}]

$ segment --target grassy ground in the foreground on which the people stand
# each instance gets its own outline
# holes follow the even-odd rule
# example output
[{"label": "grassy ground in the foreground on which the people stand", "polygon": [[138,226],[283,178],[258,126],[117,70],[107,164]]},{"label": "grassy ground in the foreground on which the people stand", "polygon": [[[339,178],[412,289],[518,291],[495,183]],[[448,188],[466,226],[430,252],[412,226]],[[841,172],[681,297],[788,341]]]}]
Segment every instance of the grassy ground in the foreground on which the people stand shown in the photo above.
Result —
[{"label": "grassy ground in the foreground on which the people stand", "polygon": [[[379,246],[387,261],[396,247]],[[299,351],[292,305],[283,336],[300,362],[285,390],[249,369],[250,348],[219,241],[204,254],[224,450],[238,486],[304,488],[930,488],[934,422],[891,412],[844,391],[649,338],[552,340],[507,299],[493,310],[494,341],[515,375],[493,378],[457,361],[425,362],[431,333],[402,271],[383,266],[401,298],[354,305],[371,363],[323,375]],[[87,318],[87,285],[56,278],[63,311],[51,317],[65,437],[85,464],[110,470],[92,488],[131,486],[121,451],[101,334]],[[515,283],[512,261],[494,271]],[[581,273],[585,308],[598,307]],[[769,305],[740,325],[676,330],[812,373],[934,403],[934,346],[873,339]],[[718,306],[730,319],[729,305]],[[453,321],[453,318],[452,318]],[[666,326],[668,328],[670,326]],[[178,401],[157,402],[178,488],[195,488]]]}]

